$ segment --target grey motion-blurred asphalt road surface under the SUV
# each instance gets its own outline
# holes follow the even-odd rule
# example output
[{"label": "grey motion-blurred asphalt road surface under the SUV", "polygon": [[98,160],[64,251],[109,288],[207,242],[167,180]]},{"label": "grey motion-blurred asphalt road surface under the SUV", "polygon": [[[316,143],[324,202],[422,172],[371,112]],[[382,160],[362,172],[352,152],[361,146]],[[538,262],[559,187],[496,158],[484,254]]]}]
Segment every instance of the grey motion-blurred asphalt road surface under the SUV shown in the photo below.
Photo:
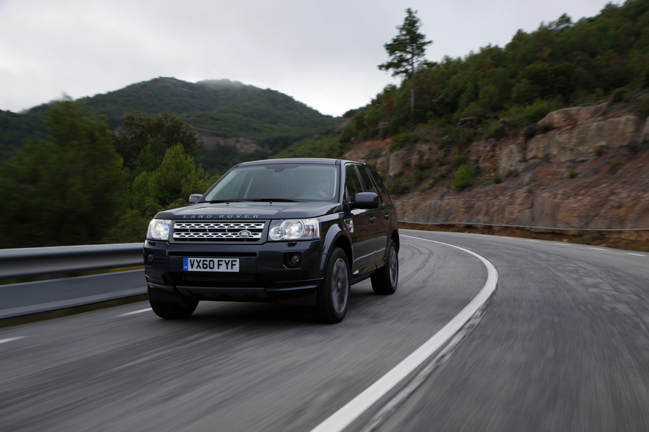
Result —
[{"label": "grey motion-blurred asphalt road surface under the SUV", "polygon": [[[649,253],[400,232],[479,253],[498,289],[379,430],[649,430]],[[334,326],[250,303],[201,302],[190,319],[165,321],[142,302],[0,328],[0,430],[310,431],[435,335],[487,277],[478,258],[410,237],[399,263],[395,295],[354,286]]]}]

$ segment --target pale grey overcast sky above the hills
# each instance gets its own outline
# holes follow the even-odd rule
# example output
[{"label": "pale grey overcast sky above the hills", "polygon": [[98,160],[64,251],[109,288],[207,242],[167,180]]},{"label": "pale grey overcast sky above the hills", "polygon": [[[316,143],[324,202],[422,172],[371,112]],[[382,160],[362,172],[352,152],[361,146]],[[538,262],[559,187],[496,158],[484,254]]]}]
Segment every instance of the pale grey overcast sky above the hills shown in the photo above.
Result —
[{"label": "pale grey overcast sky above the hills", "polygon": [[[603,0],[0,0],[0,109],[111,92],[158,76],[227,78],[341,116],[397,82],[377,69],[405,9],[426,58],[505,46],[517,29]],[[614,3],[617,3],[614,1]]]}]

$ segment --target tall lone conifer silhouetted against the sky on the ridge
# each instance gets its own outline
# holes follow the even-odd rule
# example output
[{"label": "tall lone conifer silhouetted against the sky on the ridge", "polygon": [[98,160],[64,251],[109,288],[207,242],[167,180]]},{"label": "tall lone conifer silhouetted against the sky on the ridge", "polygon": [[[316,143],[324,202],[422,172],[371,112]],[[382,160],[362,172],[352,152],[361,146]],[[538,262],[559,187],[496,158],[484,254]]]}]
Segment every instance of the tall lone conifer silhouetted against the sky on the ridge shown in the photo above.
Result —
[{"label": "tall lone conifer silhouetted against the sky on the ridge", "polygon": [[414,76],[416,67],[423,60],[426,47],[432,41],[425,41],[425,35],[419,33],[421,22],[415,16],[417,11],[406,9],[406,18],[403,25],[397,27],[399,34],[392,38],[392,42],[385,43],[390,61],[378,65],[382,71],[392,70],[392,76],[405,76],[410,79],[410,109],[415,106]]}]

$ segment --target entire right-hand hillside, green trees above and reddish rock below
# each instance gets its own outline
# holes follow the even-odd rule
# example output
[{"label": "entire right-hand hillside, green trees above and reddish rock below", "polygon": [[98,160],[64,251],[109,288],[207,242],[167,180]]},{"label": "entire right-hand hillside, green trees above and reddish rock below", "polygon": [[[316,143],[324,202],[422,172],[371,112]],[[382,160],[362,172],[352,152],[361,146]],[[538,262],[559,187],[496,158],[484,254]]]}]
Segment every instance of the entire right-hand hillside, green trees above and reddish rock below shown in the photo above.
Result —
[{"label": "entire right-hand hillside, green trees above and reddish rock below", "polygon": [[[422,64],[341,132],[399,219],[649,228],[649,0]],[[645,240],[648,239],[645,236]]]}]

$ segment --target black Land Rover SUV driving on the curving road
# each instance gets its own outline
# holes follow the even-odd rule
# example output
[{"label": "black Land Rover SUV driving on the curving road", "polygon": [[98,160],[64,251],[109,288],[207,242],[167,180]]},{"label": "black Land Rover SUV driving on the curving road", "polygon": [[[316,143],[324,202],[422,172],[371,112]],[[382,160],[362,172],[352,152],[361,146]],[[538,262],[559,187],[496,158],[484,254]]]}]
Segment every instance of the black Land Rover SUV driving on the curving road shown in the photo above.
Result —
[{"label": "black Land Rover SUV driving on the curving road", "polygon": [[230,169],[190,205],[160,211],[144,243],[153,312],[192,314],[199,300],[308,306],[347,313],[350,285],[399,277],[397,213],[376,169],[350,160],[275,159]]}]

